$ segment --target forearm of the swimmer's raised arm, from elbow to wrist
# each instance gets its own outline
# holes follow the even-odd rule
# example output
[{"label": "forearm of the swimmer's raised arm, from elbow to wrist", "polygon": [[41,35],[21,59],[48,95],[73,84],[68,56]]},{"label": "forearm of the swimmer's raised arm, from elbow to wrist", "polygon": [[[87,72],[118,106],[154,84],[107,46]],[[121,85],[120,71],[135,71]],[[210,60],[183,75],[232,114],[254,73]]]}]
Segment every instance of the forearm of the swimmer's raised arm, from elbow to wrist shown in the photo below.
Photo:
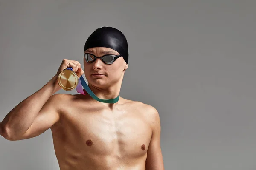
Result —
[{"label": "forearm of the swimmer's raised arm, from elbow to wrist", "polygon": [[24,99],[6,115],[0,123],[0,134],[9,137],[24,134],[47,100],[58,90],[60,87],[56,75],[40,90]]}]

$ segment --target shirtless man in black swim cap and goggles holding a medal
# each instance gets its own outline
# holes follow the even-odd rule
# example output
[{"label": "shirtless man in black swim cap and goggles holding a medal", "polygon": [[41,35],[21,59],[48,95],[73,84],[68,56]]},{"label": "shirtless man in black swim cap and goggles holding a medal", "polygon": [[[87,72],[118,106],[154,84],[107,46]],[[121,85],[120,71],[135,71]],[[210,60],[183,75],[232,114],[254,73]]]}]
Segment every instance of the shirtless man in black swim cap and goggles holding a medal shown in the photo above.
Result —
[{"label": "shirtless man in black swim cap and goggles holding a medal", "polygon": [[[97,37],[100,42],[96,42]],[[97,43],[101,45],[97,47]],[[105,103],[89,94],[55,94],[61,89],[58,74],[72,67],[78,77],[85,74],[88,86],[100,99],[119,95],[128,68],[123,34],[102,27],[85,46],[84,52],[90,55],[84,55],[84,71],[79,62],[64,59],[46,85],[6,115],[0,123],[1,136],[10,141],[23,140],[50,128],[60,170],[164,170],[160,118],[154,107],[122,97],[116,103]],[[122,56],[107,61],[93,59],[91,54]]]}]

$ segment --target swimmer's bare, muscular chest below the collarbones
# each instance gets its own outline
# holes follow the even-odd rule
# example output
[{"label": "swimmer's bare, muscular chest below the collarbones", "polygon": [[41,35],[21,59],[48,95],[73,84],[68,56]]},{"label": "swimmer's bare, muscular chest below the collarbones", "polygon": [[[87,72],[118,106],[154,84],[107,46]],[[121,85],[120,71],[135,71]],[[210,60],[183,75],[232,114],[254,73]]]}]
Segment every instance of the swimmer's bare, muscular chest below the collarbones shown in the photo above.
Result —
[{"label": "swimmer's bare, muscular chest below the collarbones", "polygon": [[151,128],[133,111],[79,111],[66,114],[54,131],[55,142],[93,155],[115,157],[145,155]]}]

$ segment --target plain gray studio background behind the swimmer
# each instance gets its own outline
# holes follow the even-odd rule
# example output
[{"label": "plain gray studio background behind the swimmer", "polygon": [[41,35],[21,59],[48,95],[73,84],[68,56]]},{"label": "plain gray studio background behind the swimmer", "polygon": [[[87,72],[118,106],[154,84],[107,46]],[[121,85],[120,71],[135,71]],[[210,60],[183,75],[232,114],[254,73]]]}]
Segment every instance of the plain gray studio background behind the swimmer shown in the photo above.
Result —
[{"label": "plain gray studio background behind the swimmer", "polygon": [[[1,120],[102,26],[127,37],[120,95],[159,111],[166,170],[256,169],[255,0],[1,0]],[[50,130],[0,137],[0,170],[15,169],[59,169]]]}]

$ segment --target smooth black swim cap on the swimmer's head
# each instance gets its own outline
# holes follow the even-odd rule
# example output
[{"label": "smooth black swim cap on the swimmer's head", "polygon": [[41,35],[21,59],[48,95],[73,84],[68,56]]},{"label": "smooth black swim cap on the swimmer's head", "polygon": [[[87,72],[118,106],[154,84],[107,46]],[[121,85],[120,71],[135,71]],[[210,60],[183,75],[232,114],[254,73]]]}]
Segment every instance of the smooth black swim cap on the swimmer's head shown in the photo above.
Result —
[{"label": "smooth black swim cap on the swimmer's head", "polygon": [[87,39],[84,51],[93,47],[111,48],[122,55],[128,64],[128,43],[125,35],[116,28],[102,27],[96,29]]}]

